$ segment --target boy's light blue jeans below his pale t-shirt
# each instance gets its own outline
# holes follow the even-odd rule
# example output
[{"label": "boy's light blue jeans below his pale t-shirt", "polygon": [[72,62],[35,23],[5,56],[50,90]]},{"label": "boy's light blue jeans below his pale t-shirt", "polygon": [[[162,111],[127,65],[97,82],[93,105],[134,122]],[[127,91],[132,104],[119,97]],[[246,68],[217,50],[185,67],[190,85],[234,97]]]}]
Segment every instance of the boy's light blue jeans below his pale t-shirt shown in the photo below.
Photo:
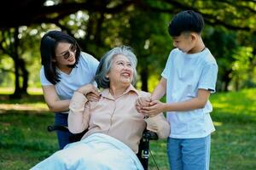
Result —
[{"label": "boy's light blue jeans below his pale t-shirt", "polygon": [[208,170],[211,135],[198,139],[167,139],[167,154],[172,170]]}]

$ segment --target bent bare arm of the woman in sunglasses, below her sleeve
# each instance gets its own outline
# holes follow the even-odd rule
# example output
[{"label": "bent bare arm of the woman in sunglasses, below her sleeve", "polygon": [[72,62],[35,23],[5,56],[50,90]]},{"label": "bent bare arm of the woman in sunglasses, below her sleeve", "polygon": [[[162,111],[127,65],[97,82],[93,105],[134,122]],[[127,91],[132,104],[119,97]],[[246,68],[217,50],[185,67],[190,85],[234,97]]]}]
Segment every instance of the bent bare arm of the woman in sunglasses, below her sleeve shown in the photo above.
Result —
[{"label": "bent bare arm of the woman in sunglasses, below her sleeve", "polygon": [[61,112],[68,111],[69,99],[61,100],[56,93],[55,86],[43,86],[44,100],[49,107],[49,111]]}]

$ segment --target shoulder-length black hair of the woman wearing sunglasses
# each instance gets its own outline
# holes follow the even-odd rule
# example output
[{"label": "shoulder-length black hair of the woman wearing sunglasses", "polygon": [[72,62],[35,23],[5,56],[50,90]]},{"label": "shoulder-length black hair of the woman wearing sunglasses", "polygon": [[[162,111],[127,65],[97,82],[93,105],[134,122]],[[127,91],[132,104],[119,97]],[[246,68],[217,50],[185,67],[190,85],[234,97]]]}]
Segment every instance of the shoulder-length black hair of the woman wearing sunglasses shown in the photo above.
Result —
[{"label": "shoulder-length black hair of the woman wearing sunglasses", "polygon": [[81,52],[81,48],[79,47],[78,42],[63,31],[49,31],[44,34],[40,45],[40,53],[42,59],[41,64],[44,65],[45,77],[54,85],[61,81],[61,77],[56,71],[56,64],[52,61],[52,59],[55,59],[55,48],[59,42],[68,42],[77,46],[75,56],[76,62],[73,65],[69,65],[71,68],[74,68],[78,64]]}]

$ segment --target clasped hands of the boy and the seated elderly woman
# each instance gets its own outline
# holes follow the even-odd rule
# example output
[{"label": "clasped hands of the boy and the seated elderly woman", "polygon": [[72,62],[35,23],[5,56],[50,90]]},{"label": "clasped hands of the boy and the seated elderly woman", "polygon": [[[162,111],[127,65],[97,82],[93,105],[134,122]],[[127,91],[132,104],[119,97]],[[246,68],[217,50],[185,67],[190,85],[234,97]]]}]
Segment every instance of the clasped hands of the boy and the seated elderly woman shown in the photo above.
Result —
[{"label": "clasped hands of the boy and the seated elderly woman", "polygon": [[165,111],[165,104],[159,100],[152,101],[151,98],[140,97],[137,99],[136,109],[144,116],[156,116]]}]

